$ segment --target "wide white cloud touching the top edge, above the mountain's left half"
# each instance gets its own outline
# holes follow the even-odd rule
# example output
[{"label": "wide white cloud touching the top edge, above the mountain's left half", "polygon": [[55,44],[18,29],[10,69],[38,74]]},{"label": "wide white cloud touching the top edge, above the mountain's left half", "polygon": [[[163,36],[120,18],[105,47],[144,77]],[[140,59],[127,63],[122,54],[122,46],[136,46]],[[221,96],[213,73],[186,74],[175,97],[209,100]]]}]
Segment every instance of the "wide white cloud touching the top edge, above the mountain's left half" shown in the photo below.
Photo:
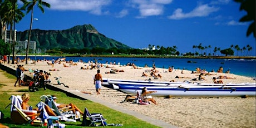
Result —
[{"label": "wide white cloud touching the top edge, above the mountain's left half", "polygon": [[111,4],[111,0],[45,0],[51,4],[51,9],[61,11],[88,11],[102,14],[102,7]]}]

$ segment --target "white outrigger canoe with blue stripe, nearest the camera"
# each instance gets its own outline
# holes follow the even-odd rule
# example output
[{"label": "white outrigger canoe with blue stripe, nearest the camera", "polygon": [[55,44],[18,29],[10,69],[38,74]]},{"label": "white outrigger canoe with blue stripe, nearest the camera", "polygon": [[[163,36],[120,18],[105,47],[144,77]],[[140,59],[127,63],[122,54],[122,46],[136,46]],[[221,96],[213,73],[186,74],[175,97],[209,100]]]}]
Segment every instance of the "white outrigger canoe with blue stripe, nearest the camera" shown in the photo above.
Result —
[{"label": "white outrigger canoe with blue stripe, nearest the camera", "polygon": [[135,94],[136,91],[146,87],[152,96],[172,96],[172,97],[237,97],[256,96],[255,83],[133,83],[114,82],[112,86],[125,93]]}]

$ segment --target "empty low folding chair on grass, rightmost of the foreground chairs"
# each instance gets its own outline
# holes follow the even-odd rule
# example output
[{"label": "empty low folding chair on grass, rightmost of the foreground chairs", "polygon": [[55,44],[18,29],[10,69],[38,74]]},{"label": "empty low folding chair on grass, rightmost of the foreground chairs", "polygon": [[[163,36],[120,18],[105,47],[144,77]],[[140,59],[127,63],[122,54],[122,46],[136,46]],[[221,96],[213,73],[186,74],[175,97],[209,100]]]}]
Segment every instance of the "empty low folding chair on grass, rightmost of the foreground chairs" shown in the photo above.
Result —
[{"label": "empty low folding chair on grass, rightmost of the foreground chairs", "polygon": [[83,120],[87,120],[87,117],[91,121],[91,124],[89,126],[92,126],[96,122],[101,122],[101,124],[103,126],[105,126],[104,122],[106,121],[106,119],[104,119],[104,117],[101,114],[90,114],[88,109],[85,107],[85,113],[83,115]]}]

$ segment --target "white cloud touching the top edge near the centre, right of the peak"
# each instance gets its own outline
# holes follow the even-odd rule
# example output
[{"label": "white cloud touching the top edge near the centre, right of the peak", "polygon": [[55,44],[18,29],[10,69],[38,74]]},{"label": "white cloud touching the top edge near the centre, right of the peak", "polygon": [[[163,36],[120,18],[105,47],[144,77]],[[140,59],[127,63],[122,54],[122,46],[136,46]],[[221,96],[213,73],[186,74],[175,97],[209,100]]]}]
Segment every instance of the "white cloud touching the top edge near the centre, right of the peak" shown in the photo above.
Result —
[{"label": "white cloud touching the top edge near the centre, right of the peak", "polygon": [[173,0],[131,0],[131,7],[138,8],[139,17],[158,16],[164,13],[164,5]]}]

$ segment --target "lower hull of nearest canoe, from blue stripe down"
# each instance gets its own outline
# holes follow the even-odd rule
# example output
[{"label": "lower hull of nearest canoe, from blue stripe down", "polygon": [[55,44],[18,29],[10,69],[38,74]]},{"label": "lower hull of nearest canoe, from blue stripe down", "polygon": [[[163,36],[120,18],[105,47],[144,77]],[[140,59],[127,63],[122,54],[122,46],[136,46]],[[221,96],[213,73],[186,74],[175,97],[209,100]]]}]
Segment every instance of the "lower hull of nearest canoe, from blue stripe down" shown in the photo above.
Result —
[{"label": "lower hull of nearest canoe, from blue stripe down", "polygon": [[[119,90],[125,93],[136,94],[141,92],[143,87],[119,86]],[[240,96],[256,96],[256,88],[254,87],[223,87],[223,88],[189,88],[189,87],[147,87],[148,91],[156,91],[150,93],[152,96],[171,96],[171,97],[240,97]]]}]

